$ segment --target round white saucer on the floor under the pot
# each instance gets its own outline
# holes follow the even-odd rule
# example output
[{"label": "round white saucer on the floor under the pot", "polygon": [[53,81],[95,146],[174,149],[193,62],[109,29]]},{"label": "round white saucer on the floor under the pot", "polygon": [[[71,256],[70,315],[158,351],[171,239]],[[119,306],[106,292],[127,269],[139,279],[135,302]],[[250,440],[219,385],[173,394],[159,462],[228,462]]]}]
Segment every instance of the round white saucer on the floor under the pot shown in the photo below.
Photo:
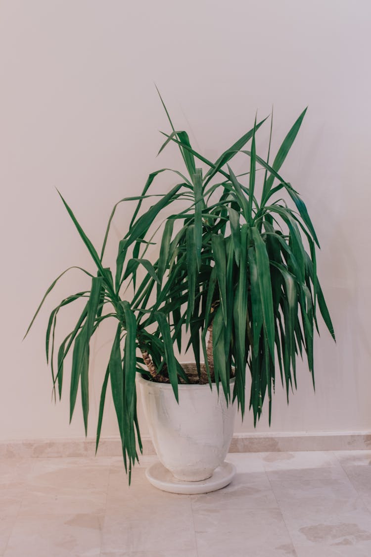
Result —
[{"label": "round white saucer on the floor under the pot", "polygon": [[223,462],[222,465],[214,470],[212,476],[207,478],[207,480],[187,482],[184,480],[177,480],[161,462],[155,462],[152,466],[147,468],[146,477],[147,480],[152,483],[152,486],[162,491],[192,495],[197,493],[209,493],[210,491],[216,491],[227,486],[235,473],[236,468],[231,462]]}]

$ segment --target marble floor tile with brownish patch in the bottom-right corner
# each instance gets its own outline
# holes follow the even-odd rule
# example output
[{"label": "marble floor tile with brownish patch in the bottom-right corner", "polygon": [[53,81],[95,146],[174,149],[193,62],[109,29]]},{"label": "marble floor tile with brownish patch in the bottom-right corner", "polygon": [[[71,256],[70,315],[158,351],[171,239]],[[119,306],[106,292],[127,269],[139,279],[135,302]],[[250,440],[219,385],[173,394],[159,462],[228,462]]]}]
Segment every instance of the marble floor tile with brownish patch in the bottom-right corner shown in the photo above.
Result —
[{"label": "marble floor tile with brownish patch in the bottom-right corner", "polygon": [[371,555],[371,513],[348,478],[271,485],[298,557]]}]

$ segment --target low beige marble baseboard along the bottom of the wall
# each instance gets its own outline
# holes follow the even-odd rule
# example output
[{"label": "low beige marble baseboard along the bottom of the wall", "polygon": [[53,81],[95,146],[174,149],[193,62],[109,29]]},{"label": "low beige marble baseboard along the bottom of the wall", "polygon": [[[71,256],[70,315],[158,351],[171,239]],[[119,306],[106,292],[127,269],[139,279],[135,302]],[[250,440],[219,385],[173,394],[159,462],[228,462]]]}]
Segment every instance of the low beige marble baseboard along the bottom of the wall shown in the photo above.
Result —
[{"label": "low beige marble baseboard along the bottom of the wall", "polygon": [[[149,437],[142,439],[143,454],[154,455]],[[371,450],[371,432],[236,433],[230,452]],[[0,458],[93,457],[95,439],[27,439],[0,442]],[[121,456],[118,437],[102,438],[98,457]]]}]

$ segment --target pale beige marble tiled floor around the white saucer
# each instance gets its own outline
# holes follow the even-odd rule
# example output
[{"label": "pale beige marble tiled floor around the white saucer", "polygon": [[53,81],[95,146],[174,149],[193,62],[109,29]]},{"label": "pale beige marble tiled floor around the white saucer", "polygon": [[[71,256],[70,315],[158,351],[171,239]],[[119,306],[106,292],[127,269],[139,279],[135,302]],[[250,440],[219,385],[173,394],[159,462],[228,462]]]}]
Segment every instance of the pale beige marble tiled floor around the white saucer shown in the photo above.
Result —
[{"label": "pale beige marble tiled floor around the white saucer", "polygon": [[234,453],[224,490],[128,488],[118,458],[0,462],[4,557],[370,557],[371,451]]}]

